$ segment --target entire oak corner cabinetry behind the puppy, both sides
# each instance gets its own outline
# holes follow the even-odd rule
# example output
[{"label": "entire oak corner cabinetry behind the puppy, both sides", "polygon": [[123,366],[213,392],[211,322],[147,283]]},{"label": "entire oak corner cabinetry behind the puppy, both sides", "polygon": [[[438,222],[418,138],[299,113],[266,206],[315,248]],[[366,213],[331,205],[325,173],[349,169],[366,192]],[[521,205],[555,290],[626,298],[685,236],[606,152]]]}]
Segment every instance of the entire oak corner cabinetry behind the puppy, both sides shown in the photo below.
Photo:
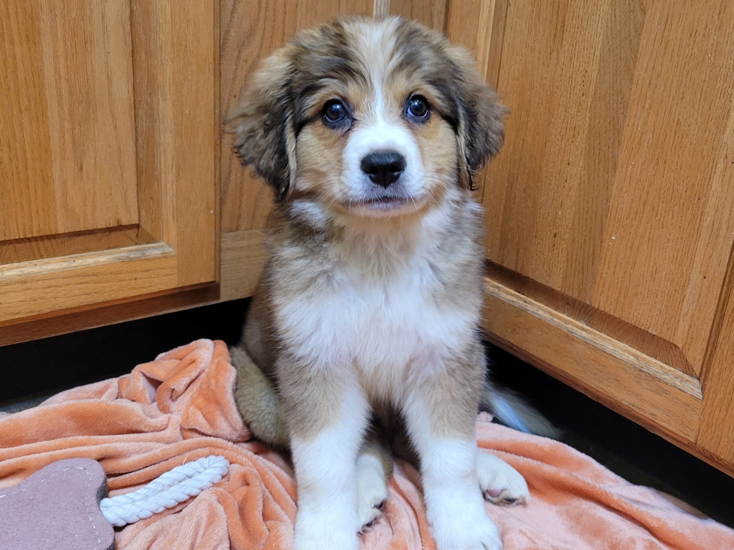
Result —
[{"label": "entire oak corner cabinetry behind the puppy, both sides", "polygon": [[297,29],[388,12],[512,111],[488,337],[734,473],[732,2],[7,0],[0,345],[249,296],[272,196],[223,117]]}]

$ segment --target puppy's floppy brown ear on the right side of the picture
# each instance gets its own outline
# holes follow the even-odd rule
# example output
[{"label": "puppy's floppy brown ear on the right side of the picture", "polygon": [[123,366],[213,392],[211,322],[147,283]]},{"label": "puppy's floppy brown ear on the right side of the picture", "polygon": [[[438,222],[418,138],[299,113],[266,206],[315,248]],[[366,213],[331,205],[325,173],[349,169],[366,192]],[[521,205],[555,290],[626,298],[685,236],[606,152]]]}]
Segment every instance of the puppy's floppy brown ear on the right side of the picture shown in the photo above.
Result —
[{"label": "puppy's floppy brown ear on the right side of the picture", "polygon": [[508,109],[476,70],[476,62],[464,48],[447,51],[459,70],[459,181],[473,189],[473,175],[499,153],[504,143],[504,117]]}]

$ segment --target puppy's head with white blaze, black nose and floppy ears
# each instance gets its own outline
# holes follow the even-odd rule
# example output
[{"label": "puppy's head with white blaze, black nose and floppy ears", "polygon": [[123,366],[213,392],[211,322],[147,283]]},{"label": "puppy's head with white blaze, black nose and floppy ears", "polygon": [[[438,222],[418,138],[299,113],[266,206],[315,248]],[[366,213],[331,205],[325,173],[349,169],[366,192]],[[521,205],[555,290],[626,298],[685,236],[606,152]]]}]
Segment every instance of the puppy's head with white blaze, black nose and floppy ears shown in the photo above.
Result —
[{"label": "puppy's head with white blaze, black nose and floppy ears", "polygon": [[275,190],[351,216],[430,208],[501,147],[506,112],[463,48],[401,18],[297,34],[264,61],[228,126]]}]

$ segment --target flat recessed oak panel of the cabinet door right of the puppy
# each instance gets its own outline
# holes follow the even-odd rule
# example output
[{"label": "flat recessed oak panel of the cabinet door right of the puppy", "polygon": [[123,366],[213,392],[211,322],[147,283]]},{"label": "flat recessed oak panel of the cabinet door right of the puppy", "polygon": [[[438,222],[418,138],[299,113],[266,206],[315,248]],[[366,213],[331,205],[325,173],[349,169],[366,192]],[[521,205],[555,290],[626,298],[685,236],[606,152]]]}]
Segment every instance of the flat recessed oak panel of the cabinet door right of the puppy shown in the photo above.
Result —
[{"label": "flat recessed oak panel of the cabinet door right of the puppy", "polygon": [[688,8],[509,4],[512,114],[484,205],[490,260],[649,333],[661,345],[646,353],[698,376],[734,238],[734,6]]}]

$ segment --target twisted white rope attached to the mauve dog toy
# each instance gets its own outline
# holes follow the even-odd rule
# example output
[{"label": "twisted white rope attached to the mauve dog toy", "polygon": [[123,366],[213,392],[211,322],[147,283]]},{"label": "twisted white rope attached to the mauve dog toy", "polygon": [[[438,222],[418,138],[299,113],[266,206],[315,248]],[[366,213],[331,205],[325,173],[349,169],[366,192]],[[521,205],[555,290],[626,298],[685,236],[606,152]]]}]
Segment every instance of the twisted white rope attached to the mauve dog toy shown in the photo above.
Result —
[{"label": "twisted white rope attached to the mauve dog toy", "polygon": [[176,466],[137,491],[102,499],[99,507],[107,521],[123,527],[172,508],[219,483],[228,467],[229,461],[223,456],[205,456]]}]

